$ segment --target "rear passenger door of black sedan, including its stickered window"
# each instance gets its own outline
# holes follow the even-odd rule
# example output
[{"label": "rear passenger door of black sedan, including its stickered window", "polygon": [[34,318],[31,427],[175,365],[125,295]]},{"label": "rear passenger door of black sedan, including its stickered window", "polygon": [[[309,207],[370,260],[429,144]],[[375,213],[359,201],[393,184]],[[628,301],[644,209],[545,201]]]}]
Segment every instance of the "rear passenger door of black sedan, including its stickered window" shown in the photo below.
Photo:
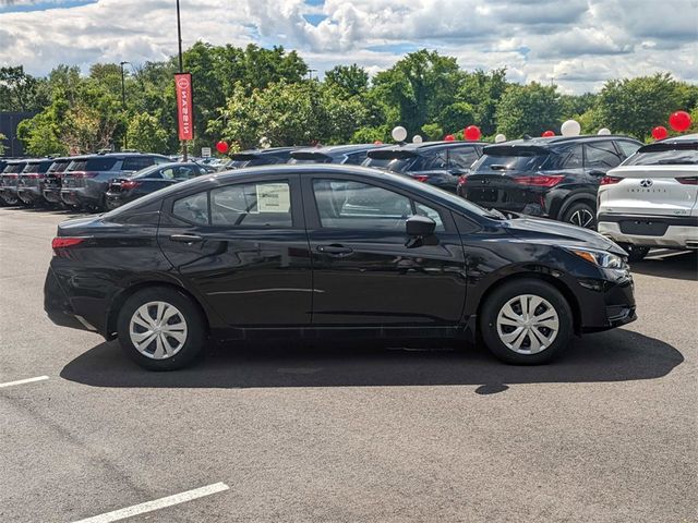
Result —
[{"label": "rear passenger door of black sedan, including its stickered window", "polygon": [[230,326],[310,324],[312,270],[298,175],[218,183],[166,199],[163,252]]}]

